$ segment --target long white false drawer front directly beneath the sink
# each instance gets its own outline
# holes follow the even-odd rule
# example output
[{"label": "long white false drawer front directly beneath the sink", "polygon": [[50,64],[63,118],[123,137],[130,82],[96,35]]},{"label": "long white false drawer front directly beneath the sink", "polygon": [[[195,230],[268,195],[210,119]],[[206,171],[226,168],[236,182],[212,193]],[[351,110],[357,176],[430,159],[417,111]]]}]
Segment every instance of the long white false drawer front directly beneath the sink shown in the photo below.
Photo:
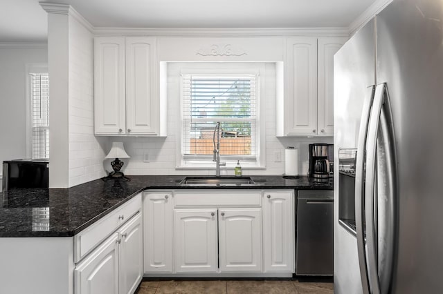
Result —
[{"label": "long white false drawer front directly beneath the sink", "polygon": [[174,194],[176,207],[187,206],[262,206],[261,191],[193,190]]}]

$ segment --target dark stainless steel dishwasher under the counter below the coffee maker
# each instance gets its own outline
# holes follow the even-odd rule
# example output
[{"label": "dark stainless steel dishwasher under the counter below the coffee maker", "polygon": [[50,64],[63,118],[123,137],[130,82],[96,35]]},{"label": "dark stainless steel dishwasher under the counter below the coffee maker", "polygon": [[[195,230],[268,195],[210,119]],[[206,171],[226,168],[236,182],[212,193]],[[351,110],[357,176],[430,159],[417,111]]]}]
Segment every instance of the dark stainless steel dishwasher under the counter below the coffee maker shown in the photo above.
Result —
[{"label": "dark stainless steel dishwasher under the counter below the coffee maker", "polygon": [[296,275],[334,274],[334,193],[299,190]]}]

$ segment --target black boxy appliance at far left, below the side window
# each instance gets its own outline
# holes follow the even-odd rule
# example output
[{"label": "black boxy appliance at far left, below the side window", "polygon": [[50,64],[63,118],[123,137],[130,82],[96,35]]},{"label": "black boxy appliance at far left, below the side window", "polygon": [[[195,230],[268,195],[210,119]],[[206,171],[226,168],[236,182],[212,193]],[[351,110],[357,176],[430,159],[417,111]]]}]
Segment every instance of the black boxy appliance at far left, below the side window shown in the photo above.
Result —
[{"label": "black boxy appliance at far left, below the side window", "polygon": [[48,188],[48,159],[3,161],[3,191],[14,188]]}]

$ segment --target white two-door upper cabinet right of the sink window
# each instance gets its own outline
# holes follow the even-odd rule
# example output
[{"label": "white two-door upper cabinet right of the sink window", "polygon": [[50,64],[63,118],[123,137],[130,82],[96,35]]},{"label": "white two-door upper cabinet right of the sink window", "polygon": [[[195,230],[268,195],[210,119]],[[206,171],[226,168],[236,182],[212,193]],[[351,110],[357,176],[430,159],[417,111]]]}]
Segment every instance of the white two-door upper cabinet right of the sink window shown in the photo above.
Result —
[{"label": "white two-door upper cabinet right of the sink window", "polygon": [[277,135],[334,134],[334,54],[342,37],[287,38],[284,95],[278,99]]}]

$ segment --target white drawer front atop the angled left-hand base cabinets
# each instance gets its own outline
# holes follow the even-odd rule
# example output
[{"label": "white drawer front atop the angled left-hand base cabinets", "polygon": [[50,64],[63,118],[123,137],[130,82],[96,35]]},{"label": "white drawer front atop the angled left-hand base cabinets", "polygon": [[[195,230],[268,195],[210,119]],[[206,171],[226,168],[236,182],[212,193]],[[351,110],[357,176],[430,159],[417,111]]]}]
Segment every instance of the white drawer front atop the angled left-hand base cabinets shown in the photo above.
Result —
[{"label": "white drawer front atop the angled left-hand base cabinets", "polygon": [[102,240],[114,233],[132,215],[141,210],[141,195],[116,208],[95,224],[85,228],[74,237],[74,262],[77,263]]}]

